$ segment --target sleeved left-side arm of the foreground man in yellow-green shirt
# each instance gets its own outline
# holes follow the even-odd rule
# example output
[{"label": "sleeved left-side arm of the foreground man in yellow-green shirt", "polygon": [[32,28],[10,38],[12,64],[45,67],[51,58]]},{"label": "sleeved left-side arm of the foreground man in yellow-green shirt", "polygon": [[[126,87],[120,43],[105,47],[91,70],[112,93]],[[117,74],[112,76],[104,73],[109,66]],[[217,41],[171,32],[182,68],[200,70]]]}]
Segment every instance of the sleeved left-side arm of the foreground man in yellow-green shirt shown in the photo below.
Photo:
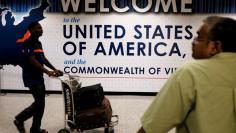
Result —
[{"label": "sleeved left-side arm of the foreground man in yellow-green shirt", "polygon": [[194,104],[195,91],[189,70],[179,68],[165,83],[141,118],[148,133],[166,133],[182,124]]}]

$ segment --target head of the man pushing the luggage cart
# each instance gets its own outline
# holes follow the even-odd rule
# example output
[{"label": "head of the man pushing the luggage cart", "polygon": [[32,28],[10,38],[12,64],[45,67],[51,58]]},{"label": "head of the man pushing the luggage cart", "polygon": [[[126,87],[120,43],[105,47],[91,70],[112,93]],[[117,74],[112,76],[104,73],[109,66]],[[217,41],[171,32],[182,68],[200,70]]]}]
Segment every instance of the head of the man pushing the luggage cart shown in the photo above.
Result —
[{"label": "head of the man pushing the luggage cart", "polygon": [[31,36],[40,37],[43,34],[43,28],[38,22],[31,23],[28,30],[30,31]]}]

